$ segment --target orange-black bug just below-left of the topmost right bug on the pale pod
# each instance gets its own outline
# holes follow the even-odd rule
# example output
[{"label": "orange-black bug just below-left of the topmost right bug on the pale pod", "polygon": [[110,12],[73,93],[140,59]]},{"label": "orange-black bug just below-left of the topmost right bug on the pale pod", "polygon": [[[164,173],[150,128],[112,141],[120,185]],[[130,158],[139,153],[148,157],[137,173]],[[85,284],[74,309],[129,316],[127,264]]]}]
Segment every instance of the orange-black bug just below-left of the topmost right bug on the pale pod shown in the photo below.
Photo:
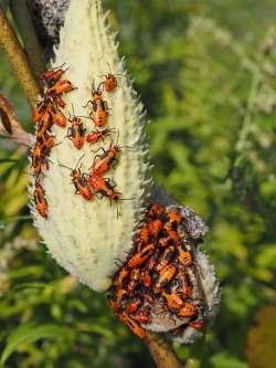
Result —
[{"label": "orange-black bug just below-left of the topmost right bug on the pale pod", "polygon": [[86,107],[88,104],[92,104],[92,112],[89,113],[89,117],[97,127],[103,128],[107,122],[108,107],[107,102],[102,97],[99,87],[97,90],[92,90],[92,99],[89,99],[84,107]]}]

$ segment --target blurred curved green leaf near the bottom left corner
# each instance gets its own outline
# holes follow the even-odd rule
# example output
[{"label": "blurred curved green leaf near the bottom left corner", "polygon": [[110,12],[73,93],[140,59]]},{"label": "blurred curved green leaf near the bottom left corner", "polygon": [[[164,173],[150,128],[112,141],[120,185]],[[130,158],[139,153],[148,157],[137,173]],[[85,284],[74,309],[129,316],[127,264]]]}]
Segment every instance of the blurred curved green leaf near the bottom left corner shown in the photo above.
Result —
[{"label": "blurred curved green leaf near the bottom left corner", "polygon": [[10,355],[14,353],[21,344],[34,343],[41,338],[61,338],[66,336],[67,333],[68,328],[57,325],[36,326],[33,323],[28,323],[19,326],[8,337],[0,362],[4,365]]}]

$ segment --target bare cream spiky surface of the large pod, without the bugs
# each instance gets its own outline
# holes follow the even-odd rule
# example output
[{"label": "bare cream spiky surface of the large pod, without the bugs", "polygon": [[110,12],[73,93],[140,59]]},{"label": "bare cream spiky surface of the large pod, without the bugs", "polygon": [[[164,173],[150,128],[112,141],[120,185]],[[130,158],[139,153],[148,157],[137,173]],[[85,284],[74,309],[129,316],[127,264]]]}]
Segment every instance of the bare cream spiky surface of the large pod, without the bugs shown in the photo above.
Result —
[{"label": "bare cream spiky surface of the large pod, without the bugs", "polygon": [[[49,203],[49,218],[34,213],[35,225],[52,256],[71,274],[97,292],[104,292],[118,267],[118,260],[125,260],[131,249],[135,231],[141,221],[145,200],[149,192],[148,148],[145,143],[145,116],[142,106],[129,84],[124,63],[119,60],[115,36],[109,34],[106,17],[98,0],[72,0],[65,14],[65,23],[55,51],[54,66],[66,63],[64,78],[77,90],[66,94],[66,116],[88,116],[91,107],[83,107],[92,98],[92,84],[103,81],[109,72],[118,76],[118,87],[103,94],[110,108],[106,127],[116,130],[108,140],[88,144],[77,150],[65,138],[66,128],[53,126],[55,143],[51,150],[50,169],[43,179]],[[92,119],[83,118],[87,132],[95,129]],[[108,148],[110,141],[123,147],[116,169],[105,177],[114,178],[116,190],[123,199],[117,204],[104,198],[85,201],[74,193],[70,170],[75,168],[79,157],[81,169],[88,172],[95,156],[91,150]],[[32,192],[32,189],[31,189]]]}]

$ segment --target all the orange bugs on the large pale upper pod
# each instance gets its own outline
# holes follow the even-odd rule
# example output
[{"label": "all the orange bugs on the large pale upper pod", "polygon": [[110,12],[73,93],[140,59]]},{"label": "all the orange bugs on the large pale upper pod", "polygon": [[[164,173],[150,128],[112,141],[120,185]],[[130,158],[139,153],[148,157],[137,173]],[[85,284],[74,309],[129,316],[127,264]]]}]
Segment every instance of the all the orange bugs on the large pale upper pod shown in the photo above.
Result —
[{"label": "all the orange bugs on the large pale upper pod", "polygon": [[[109,64],[108,64],[109,66]],[[110,70],[110,66],[109,66]],[[92,105],[92,111],[88,118],[94,125],[94,129],[86,134],[86,128],[82,122],[82,116],[76,116],[73,109],[73,116],[65,116],[63,109],[65,102],[63,95],[68,93],[76,87],[71,81],[63,78],[64,73],[67,69],[56,67],[54,70],[46,71],[40,78],[44,85],[44,98],[36,104],[32,120],[38,125],[36,128],[36,141],[31,153],[31,161],[34,171],[34,203],[36,211],[43,217],[47,218],[47,201],[45,198],[45,190],[42,186],[42,179],[46,170],[49,170],[49,156],[54,144],[54,135],[51,134],[51,128],[55,124],[61,128],[65,128],[67,123],[66,138],[70,139],[73,146],[81,150],[84,144],[89,145],[105,141],[105,139],[114,134],[114,129],[107,128],[108,107],[107,102],[103,98],[103,94],[112,93],[117,88],[117,80],[115,74],[112,72],[104,75],[105,80],[98,84],[98,87],[93,87],[92,99],[86,103],[86,106]],[[83,106],[83,107],[86,107]],[[116,157],[121,147],[113,143],[107,149],[100,147],[103,153],[96,155],[88,174],[82,172],[77,168],[81,159],[76,167],[71,169],[72,183],[75,188],[75,193],[81,194],[85,200],[89,201],[95,196],[107,197],[110,202],[119,200],[119,192],[115,190],[116,185],[109,178],[104,178],[110,168],[114,168],[116,164]],[[84,156],[84,155],[83,155]],[[82,157],[83,157],[82,156]],[[82,158],[81,157],[81,158]],[[61,165],[66,167],[65,165]]]}]

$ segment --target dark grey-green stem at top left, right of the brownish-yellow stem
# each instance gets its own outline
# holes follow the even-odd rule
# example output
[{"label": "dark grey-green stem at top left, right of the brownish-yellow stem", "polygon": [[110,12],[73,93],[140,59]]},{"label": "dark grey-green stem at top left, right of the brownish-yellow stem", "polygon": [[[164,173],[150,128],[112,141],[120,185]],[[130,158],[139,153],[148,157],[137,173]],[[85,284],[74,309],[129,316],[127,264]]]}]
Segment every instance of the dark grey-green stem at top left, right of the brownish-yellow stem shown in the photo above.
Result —
[{"label": "dark grey-green stem at top left, right of the brownish-yellow stem", "polygon": [[10,0],[10,11],[23,40],[24,50],[33,74],[39,81],[39,76],[45,72],[46,63],[42,54],[39,40],[36,38],[32,18],[30,15],[25,0]]}]

